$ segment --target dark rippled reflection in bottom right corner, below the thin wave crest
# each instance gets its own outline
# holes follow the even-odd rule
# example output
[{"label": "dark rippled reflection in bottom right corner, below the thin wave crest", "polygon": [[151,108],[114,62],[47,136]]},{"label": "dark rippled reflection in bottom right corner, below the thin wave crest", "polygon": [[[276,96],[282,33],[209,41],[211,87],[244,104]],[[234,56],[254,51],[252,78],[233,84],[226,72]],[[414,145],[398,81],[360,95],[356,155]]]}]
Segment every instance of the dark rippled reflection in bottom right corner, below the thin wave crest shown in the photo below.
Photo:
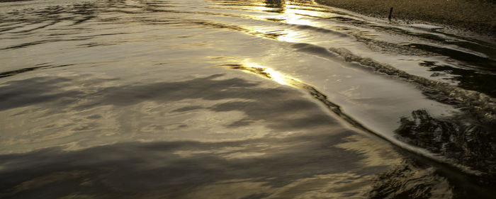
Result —
[{"label": "dark rippled reflection in bottom right corner, below the thin wave crest", "polygon": [[400,198],[494,198],[494,183],[480,183],[477,176],[463,176],[439,166],[429,167],[422,161],[408,159],[375,177],[368,192],[371,199]]}]

